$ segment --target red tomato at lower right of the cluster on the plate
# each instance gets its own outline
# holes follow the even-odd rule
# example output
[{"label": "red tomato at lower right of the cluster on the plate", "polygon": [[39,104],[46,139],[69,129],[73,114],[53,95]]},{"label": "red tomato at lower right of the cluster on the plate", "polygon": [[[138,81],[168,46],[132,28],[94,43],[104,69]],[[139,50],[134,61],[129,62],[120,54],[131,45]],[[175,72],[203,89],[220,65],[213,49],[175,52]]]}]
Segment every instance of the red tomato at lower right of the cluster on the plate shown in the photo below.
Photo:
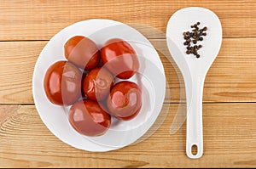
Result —
[{"label": "red tomato at lower right of the cluster on the plate", "polygon": [[142,107],[142,92],[134,82],[115,84],[107,100],[109,113],[120,120],[129,121]]}]

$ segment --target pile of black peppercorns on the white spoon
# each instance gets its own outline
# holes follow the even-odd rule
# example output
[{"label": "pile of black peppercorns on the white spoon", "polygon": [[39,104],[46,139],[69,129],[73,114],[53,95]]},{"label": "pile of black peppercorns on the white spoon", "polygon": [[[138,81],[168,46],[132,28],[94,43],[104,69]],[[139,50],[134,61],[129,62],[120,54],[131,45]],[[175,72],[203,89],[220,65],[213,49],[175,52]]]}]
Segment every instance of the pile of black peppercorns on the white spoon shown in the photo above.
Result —
[{"label": "pile of black peppercorns on the white spoon", "polygon": [[[191,25],[191,28],[194,28],[192,31],[186,31],[183,32],[183,37],[186,40],[183,44],[187,46],[186,54],[194,54],[196,58],[200,58],[200,54],[198,54],[198,50],[202,48],[202,45],[196,45],[197,42],[203,41],[203,36],[207,36],[207,27],[203,27],[200,29],[198,27],[200,25],[200,22],[195,23],[194,25]],[[191,43],[193,44],[191,45]]]}]

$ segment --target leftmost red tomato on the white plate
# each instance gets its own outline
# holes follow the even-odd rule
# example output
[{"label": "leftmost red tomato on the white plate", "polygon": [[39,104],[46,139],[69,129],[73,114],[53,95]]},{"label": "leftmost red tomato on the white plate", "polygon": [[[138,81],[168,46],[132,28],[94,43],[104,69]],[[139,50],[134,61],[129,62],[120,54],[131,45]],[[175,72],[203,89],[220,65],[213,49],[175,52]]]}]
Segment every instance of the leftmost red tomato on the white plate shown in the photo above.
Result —
[{"label": "leftmost red tomato on the white plate", "polygon": [[70,105],[81,95],[81,71],[67,61],[51,65],[44,76],[44,91],[53,104]]}]

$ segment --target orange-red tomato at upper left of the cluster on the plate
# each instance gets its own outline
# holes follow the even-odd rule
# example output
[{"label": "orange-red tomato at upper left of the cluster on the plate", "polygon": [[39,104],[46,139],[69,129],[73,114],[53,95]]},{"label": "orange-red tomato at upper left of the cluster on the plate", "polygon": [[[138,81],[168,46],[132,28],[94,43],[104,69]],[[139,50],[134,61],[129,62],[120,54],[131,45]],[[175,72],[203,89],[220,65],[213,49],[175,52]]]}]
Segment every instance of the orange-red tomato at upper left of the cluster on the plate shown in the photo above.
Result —
[{"label": "orange-red tomato at upper left of the cluster on the plate", "polygon": [[65,57],[74,65],[85,70],[95,68],[100,61],[100,52],[96,43],[88,37],[71,37],[66,42]]}]

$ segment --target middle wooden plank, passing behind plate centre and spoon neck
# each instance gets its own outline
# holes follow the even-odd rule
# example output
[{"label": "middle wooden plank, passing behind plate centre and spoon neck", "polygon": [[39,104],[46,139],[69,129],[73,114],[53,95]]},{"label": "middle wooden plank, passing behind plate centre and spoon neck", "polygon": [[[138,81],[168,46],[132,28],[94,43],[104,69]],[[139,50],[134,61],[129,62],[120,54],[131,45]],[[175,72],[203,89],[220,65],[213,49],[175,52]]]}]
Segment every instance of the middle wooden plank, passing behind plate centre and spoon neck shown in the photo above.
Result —
[{"label": "middle wooden plank, passing behind plate centre and spoon neck", "polygon": [[[150,40],[159,51],[171,88],[172,99],[179,102],[183,87],[178,80],[180,72],[166,48],[164,39]],[[0,103],[32,104],[32,72],[38,54],[47,42],[0,42]],[[19,50],[17,50],[19,49]],[[256,101],[256,44],[255,38],[224,39],[221,51],[209,70],[205,82],[204,102],[255,102]],[[182,88],[183,89],[183,88]],[[182,90],[183,91],[183,90]]]}]

